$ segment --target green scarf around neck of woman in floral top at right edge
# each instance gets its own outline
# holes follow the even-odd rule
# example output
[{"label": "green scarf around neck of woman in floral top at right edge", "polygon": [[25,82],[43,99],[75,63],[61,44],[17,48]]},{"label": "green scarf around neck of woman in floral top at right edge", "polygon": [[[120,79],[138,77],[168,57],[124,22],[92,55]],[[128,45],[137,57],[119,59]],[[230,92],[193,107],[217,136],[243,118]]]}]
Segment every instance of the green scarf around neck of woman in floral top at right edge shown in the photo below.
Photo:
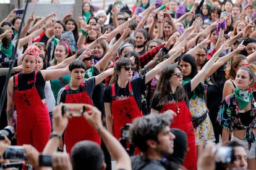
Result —
[{"label": "green scarf around neck of woman in floral top at right edge", "polygon": [[236,96],[239,108],[242,110],[244,109],[249,102],[252,100],[252,90],[248,89],[248,91],[241,91],[235,88],[234,95]]}]

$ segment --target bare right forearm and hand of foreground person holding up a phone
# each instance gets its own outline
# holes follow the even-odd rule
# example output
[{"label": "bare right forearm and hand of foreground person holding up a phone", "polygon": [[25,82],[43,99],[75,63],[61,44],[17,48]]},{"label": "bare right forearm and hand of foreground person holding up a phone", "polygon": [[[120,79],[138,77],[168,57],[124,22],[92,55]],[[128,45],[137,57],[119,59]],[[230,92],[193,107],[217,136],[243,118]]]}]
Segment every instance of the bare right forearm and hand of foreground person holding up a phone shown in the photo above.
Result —
[{"label": "bare right forearm and hand of foreground person holding up a phone", "polygon": [[85,111],[84,116],[88,123],[98,132],[113,158],[116,159],[116,169],[131,170],[132,166],[129,155],[120,142],[103,126],[100,110],[92,105],[85,104],[85,107],[87,107],[88,110]]}]

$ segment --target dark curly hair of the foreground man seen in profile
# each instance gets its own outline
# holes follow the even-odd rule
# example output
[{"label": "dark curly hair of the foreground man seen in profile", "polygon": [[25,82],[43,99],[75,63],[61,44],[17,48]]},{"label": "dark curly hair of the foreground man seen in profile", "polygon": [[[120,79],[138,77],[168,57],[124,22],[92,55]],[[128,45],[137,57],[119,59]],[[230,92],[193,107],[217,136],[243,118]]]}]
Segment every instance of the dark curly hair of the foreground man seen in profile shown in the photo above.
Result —
[{"label": "dark curly hair of the foreground man seen in profile", "polygon": [[151,114],[137,118],[129,129],[130,142],[141,152],[148,150],[147,140],[158,142],[158,133],[171,124],[173,116],[168,113]]}]

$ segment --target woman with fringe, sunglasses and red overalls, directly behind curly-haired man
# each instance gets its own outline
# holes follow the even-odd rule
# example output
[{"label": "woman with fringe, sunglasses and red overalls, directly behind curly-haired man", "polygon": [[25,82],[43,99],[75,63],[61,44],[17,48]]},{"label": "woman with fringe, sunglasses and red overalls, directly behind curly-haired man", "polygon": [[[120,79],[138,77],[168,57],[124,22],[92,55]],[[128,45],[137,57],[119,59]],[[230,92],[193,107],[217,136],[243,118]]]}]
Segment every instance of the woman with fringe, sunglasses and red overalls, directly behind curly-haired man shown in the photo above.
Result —
[{"label": "woman with fringe, sunglasses and red overalls, directly behind curly-haired man", "polygon": [[111,85],[106,87],[103,94],[106,126],[114,137],[120,139],[122,127],[127,123],[132,123],[134,118],[142,116],[141,95],[145,92],[145,84],[169,63],[174,62],[180,54],[181,50],[176,49],[176,53],[172,57],[156,65],[146,75],[132,81],[130,81],[134,71],[132,61],[127,58],[116,60]]}]

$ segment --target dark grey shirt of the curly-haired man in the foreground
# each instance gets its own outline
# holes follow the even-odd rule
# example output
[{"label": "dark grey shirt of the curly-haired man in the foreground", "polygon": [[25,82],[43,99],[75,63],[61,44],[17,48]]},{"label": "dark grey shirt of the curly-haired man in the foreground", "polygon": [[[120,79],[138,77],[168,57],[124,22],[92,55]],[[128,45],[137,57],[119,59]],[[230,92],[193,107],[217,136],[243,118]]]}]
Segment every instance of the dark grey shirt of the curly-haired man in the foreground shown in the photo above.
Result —
[{"label": "dark grey shirt of the curly-haired man in the foreground", "polygon": [[141,155],[130,157],[133,170],[165,170],[163,164],[159,160],[151,160]]}]

